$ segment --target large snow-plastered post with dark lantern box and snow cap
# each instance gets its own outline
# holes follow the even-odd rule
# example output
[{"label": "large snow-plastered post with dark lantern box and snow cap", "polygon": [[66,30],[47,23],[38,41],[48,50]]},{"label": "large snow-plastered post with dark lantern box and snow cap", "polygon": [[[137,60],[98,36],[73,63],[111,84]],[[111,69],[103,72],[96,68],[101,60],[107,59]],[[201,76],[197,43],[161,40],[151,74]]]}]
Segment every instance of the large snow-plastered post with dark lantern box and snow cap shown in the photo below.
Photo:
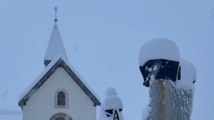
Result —
[{"label": "large snow-plastered post with dark lantern box and snow cap", "polygon": [[195,78],[187,76],[195,76],[195,70],[180,59],[176,44],[167,39],[151,40],[141,48],[139,58],[144,86],[150,89],[148,115],[142,120],[190,120]]}]

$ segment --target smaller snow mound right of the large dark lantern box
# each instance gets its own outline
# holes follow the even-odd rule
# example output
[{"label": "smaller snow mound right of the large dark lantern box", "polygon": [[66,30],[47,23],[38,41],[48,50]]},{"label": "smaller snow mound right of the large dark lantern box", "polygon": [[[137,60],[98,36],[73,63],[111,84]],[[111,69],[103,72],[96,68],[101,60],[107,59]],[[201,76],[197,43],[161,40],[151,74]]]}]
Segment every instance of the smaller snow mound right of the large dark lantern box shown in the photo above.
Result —
[{"label": "smaller snow mound right of the large dark lantern box", "polygon": [[181,80],[177,80],[177,88],[193,89],[193,83],[196,81],[196,69],[195,66],[184,60],[180,60],[181,66]]}]

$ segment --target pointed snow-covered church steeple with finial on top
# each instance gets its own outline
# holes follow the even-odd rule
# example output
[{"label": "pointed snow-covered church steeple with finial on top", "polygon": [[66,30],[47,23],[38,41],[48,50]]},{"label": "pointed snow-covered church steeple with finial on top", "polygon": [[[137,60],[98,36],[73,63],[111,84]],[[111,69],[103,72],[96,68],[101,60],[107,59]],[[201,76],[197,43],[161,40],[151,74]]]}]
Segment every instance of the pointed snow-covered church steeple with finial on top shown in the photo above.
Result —
[{"label": "pointed snow-covered church steeple with finial on top", "polygon": [[54,26],[44,58],[45,66],[47,66],[55,57],[58,56],[61,56],[64,60],[67,60],[67,55],[59,32],[57,21],[57,7],[55,7]]}]

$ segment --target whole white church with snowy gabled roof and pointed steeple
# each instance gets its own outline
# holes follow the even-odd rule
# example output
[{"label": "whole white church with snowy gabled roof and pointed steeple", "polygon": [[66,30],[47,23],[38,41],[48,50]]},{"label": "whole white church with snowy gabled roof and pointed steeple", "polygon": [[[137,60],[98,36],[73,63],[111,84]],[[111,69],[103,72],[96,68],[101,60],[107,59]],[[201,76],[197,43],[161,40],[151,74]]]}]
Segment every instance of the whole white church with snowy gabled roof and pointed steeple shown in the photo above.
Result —
[{"label": "whole white church with snowy gabled roof and pointed steeple", "polygon": [[57,18],[44,58],[45,69],[21,95],[23,120],[96,120],[96,94],[68,63]]}]

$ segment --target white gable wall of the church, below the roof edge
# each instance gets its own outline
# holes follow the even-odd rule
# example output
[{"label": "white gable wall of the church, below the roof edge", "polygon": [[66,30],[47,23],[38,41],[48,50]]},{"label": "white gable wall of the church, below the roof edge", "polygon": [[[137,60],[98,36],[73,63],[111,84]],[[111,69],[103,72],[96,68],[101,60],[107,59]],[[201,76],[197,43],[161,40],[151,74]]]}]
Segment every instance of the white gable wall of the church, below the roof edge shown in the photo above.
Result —
[{"label": "white gable wall of the church, below the roof edge", "polygon": [[[65,89],[68,107],[55,107],[55,92]],[[96,107],[63,68],[58,68],[23,106],[23,120],[49,120],[55,113],[66,113],[73,120],[96,120]]]}]

